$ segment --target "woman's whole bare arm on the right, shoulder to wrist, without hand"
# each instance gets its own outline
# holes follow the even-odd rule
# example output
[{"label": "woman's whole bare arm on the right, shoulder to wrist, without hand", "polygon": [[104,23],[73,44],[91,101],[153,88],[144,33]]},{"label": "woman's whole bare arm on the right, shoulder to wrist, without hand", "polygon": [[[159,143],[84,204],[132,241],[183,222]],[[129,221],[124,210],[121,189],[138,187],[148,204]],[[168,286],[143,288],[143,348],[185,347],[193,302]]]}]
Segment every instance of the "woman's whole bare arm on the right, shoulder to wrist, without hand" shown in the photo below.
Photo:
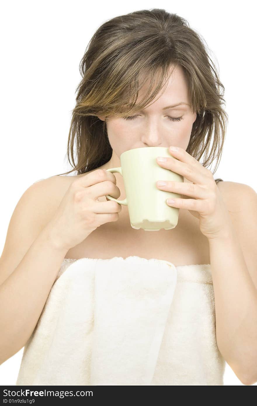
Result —
[{"label": "woman's whole bare arm on the right, shoulder to wrist, without hand", "polygon": [[257,194],[231,184],[226,194],[223,190],[231,222],[209,239],[216,339],[227,363],[249,385],[257,381]]}]

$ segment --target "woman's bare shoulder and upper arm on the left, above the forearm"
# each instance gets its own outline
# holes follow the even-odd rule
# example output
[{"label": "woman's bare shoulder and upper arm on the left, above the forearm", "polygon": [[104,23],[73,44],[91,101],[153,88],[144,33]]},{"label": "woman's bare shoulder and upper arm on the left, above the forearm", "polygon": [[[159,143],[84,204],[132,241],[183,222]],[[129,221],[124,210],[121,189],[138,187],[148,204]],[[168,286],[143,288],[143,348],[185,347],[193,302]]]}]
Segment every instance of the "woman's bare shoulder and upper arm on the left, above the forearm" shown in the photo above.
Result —
[{"label": "woman's bare shoulder and upper arm on the left, above the forearm", "polygon": [[72,180],[53,176],[29,186],[19,198],[11,215],[0,257],[0,284],[22,260],[45,225]]}]

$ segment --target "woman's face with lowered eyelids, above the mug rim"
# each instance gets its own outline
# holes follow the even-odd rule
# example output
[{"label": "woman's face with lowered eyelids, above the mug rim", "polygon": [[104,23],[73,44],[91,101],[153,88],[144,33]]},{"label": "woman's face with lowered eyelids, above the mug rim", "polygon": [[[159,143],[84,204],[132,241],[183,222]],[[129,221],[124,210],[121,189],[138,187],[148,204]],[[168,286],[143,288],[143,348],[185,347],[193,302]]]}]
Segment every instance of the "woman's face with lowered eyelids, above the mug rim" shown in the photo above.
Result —
[{"label": "woman's face with lowered eyelids, above the mug rim", "polygon": [[[139,92],[139,99],[141,92],[146,91],[146,86]],[[175,145],[186,150],[197,113],[190,111],[187,80],[181,67],[173,71],[165,92],[162,96],[160,93],[151,106],[137,112],[134,119],[106,119],[112,158],[104,165],[105,168],[121,166],[120,156],[129,149]],[[165,109],[182,102],[184,104],[180,106]],[[99,119],[105,120],[105,117],[100,116]]]}]

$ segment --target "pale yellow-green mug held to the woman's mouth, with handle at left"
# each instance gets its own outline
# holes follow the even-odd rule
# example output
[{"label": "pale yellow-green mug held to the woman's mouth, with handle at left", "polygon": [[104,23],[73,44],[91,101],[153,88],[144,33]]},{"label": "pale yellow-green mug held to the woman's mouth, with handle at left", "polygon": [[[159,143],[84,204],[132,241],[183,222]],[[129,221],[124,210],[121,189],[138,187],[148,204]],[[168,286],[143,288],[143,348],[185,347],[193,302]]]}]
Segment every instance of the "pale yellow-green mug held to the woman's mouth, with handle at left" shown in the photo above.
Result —
[{"label": "pale yellow-green mug held to the woman's mouth, with handle at left", "polygon": [[158,189],[156,182],[184,182],[184,177],[159,166],[156,162],[158,156],[171,158],[166,147],[129,149],[121,154],[119,168],[107,169],[108,172],[119,172],[123,176],[126,198],[118,200],[107,195],[106,199],[127,206],[130,225],[137,230],[170,230],[176,227],[178,222],[179,208],[169,206],[166,200],[181,195]]}]

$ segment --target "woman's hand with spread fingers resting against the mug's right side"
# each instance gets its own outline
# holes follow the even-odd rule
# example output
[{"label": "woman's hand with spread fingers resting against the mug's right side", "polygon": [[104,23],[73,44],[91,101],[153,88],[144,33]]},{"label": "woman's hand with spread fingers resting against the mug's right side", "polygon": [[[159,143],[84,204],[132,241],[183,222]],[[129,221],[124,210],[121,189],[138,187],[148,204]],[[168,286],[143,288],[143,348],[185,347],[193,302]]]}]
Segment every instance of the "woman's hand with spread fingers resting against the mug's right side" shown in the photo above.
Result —
[{"label": "woman's hand with spread fingers resting against the mug's right side", "polygon": [[158,182],[156,186],[160,190],[193,197],[193,199],[174,198],[174,203],[167,202],[167,204],[179,209],[188,209],[194,217],[199,219],[201,233],[207,238],[225,235],[231,225],[229,212],[212,172],[204,168],[183,148],[177,147],[177,149],[177,151],[168,149],[171,158],[166,158],[166,162],[159,162],[158,158],[156,162],[162,168],[170,169],[193,183],[166,181],[166,186],[158,186]]}]

